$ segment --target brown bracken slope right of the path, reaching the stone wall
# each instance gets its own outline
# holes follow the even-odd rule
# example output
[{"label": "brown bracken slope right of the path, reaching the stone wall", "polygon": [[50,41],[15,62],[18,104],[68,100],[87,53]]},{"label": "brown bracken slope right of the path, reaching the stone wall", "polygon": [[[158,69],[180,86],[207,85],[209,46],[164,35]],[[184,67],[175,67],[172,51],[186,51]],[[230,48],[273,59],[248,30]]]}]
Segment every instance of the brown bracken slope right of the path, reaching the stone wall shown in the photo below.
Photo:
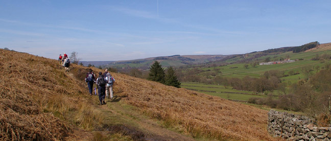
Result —
[{"label": "brown bracken slope right of the path, reaching the stone wall", "polygon": [[277,140],[267,132],[266,110],[126,75],[113,76],[115,95],[168,127],[210,139]]}]

